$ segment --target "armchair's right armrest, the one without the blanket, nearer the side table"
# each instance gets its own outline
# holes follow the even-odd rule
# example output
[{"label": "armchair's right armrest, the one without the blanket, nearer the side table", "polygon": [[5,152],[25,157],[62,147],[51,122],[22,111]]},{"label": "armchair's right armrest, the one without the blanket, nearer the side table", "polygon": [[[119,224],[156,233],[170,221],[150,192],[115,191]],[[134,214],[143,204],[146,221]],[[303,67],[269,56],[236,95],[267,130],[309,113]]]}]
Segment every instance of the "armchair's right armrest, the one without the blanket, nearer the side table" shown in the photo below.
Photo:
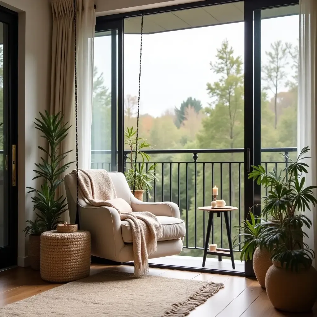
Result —
[{"label": "armchair's right armrest, the one without the blanket, nearer the side table", "polygon": [[146,203],[130,196],[131,207],[133,211],[150,211],[155,216],[167,216],[180,218],[178,205],[172,202]]}]

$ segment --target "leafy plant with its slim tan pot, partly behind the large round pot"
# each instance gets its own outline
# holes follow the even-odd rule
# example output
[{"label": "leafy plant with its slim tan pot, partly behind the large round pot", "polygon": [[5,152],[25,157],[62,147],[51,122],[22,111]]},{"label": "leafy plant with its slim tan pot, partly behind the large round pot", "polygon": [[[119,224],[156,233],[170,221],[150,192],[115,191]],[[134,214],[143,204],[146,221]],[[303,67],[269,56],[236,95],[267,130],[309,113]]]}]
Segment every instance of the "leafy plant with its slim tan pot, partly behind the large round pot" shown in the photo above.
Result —
[{"label": "leafy plant with its slim tan pot, partly behind the large round pot", "polygon": [[[253,207],[256,207],[254,205]],[[251,211],[252,207],[249,208],[250,220],[243,221],[242,226],[235,226],[241,232],[238,234],[233,244],[238,246],[242,245],[240,260],[252,261],[253,271],[256,275],[256,279],[262,288],[265,288],[265,276],[268,268],[272,265],[271,253],[262,245],[262,226],[261,217],[254,216]],[[239,238],[242,238],[239,243]],[[238,243],[237,243],[238,242]]]}]

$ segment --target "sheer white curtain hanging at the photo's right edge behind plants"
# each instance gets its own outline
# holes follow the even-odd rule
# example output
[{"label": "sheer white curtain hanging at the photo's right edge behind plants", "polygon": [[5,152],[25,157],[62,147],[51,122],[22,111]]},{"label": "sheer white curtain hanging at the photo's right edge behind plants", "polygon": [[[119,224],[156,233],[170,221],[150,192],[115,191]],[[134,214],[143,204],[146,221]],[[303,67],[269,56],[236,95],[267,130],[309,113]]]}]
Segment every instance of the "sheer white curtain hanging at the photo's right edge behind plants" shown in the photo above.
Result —
[{"label": "sheer white curtain hanging at the photo's right edge behind plants", "polygon": [[[298,152],[304,147],[311,149],[306,185],[317,184],[317,1],[300,0],[300,38],[298,73]],[[316,194],[316,191],[315,191]],[[311,219],[312,227],[305,239],[309,248],[317,255],[317,208],[305,214]]]}]

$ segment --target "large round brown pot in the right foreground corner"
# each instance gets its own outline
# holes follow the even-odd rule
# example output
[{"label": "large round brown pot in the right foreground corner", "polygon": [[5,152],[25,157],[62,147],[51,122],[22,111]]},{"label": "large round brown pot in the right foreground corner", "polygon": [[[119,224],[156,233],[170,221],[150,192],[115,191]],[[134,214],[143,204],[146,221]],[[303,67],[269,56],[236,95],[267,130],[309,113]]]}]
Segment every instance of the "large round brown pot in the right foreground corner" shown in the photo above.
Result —
[{"label": "large round brown pot in the right foreground corner", "polygon": [[292,272],[273,263],[266,273],[265,287],[275,308],[286,312],[307,312],[317,299],[317,272],[312,266]]}]

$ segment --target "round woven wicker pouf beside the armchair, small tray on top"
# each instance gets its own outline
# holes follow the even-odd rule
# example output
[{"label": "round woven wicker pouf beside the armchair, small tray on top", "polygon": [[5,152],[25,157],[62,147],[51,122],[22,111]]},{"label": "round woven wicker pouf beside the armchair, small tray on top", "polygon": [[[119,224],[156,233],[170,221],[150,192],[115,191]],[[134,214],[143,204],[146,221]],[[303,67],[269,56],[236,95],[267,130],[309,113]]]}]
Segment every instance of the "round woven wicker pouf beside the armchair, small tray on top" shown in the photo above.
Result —
[{"label": "round woven wicker pouf beside the armchair, small tray on top", "polygon": [[90,232],[46,231],[41,235],[41,277],[49,282],[70,282],[90,272]]}]

